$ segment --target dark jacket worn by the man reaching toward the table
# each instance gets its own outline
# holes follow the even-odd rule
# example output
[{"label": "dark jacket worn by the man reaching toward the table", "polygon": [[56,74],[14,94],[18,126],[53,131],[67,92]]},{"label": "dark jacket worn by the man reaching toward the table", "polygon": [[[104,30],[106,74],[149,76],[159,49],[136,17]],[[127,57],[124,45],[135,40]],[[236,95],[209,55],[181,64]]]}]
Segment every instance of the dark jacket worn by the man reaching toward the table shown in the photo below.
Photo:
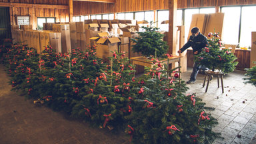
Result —
[{"label": "dark jacket worn by the man reaching toward the table", "polygon": [[198,51],[197,55],[202,51],[203,47],[206,47],[208,45],[207,38],[205,35],[202,35],[201,33],[198,33],[197,37],[194,37],[191,35],[189,37],[189,41],[180,49],[181,53],[185,51],[187,48],[192,47],[193,53],[195,51]]}]

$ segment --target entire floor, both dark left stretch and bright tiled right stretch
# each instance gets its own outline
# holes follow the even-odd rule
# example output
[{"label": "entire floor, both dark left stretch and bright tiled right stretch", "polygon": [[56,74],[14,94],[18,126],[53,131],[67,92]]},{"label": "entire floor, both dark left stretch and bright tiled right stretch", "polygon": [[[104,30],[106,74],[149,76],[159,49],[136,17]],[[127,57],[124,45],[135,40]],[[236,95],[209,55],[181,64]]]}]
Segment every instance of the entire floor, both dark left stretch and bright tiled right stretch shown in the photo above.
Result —
[{"label": "entire floor, both dark left stretch and bright tiled right stretch", "polygon": [[[95,129],[88,123],[34,105],[31,100],[24,101],[24,97],[10,91],[3,69],[0,65],[0,143],[129,143],[124,133]],[[187,81],[190,73],[191,69],[183,73],[183,80]],[[244,73],[235,71],[224,76],[225,93],[217,88],[216,77],[205,93],[202,74],[196,83],[187,85],[190,88],[187,93],[196,92],[207,106],[216,108],[211,112],[219,121],[215,131],[221,132],[225,139],[215,143],[249,143],[256,133],[256,87],[243,83]]]}]

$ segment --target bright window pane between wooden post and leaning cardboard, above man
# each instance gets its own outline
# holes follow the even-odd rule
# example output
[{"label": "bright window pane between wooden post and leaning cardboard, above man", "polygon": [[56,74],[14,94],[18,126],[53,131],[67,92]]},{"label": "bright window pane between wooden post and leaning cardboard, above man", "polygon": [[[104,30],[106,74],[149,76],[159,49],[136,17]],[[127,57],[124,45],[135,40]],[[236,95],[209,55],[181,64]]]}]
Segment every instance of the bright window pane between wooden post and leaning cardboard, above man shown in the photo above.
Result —
[{"label": "bright window pane between wooden post and leaning cardboard, above man", "polygon": [[185,42],[187,42],[187,37],[189,36],[192,15],[195,13],[199,13],[199,9],[185,9]]}]

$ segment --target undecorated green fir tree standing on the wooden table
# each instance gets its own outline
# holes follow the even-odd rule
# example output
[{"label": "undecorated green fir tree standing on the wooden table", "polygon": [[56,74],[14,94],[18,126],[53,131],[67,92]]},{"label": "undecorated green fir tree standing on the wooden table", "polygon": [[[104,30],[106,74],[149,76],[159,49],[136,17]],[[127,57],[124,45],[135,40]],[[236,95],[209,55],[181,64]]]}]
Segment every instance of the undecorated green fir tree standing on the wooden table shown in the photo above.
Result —
[{"label": "undecorated green fir tree standing on the wooden table", "polygon": [[149,57],[151,55],[155,57],[161,57],[167,53],[168,45],[163,41],[165,35],[157,32],[159,28],[153,27],[153,21],[150,22],[149,27],[142,27],[143,32],[137,32],[139,37],[131,39],[136,44],[133,45],[133,52],[141,53],[142,55]]}]

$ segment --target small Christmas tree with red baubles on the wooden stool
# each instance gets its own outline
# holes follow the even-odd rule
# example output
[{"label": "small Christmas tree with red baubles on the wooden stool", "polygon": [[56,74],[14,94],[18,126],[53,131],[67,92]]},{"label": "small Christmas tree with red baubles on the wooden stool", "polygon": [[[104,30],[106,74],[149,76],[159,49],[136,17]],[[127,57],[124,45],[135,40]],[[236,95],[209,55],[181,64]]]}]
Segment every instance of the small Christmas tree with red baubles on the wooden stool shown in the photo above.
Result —
[{"label": "small Christmas tree with red baubles on the wooden stool", "polygon": [[195,55],[195,61],[198,61],[200,65],[212,69],[219,69],[224,73],[230,73],[234,71],[237,65],[237,57],[229,49],[221,49],[222,43],[219,38],[219,33],[209,33],[208,39],[209,45],[203,48],[199,55]]}]

